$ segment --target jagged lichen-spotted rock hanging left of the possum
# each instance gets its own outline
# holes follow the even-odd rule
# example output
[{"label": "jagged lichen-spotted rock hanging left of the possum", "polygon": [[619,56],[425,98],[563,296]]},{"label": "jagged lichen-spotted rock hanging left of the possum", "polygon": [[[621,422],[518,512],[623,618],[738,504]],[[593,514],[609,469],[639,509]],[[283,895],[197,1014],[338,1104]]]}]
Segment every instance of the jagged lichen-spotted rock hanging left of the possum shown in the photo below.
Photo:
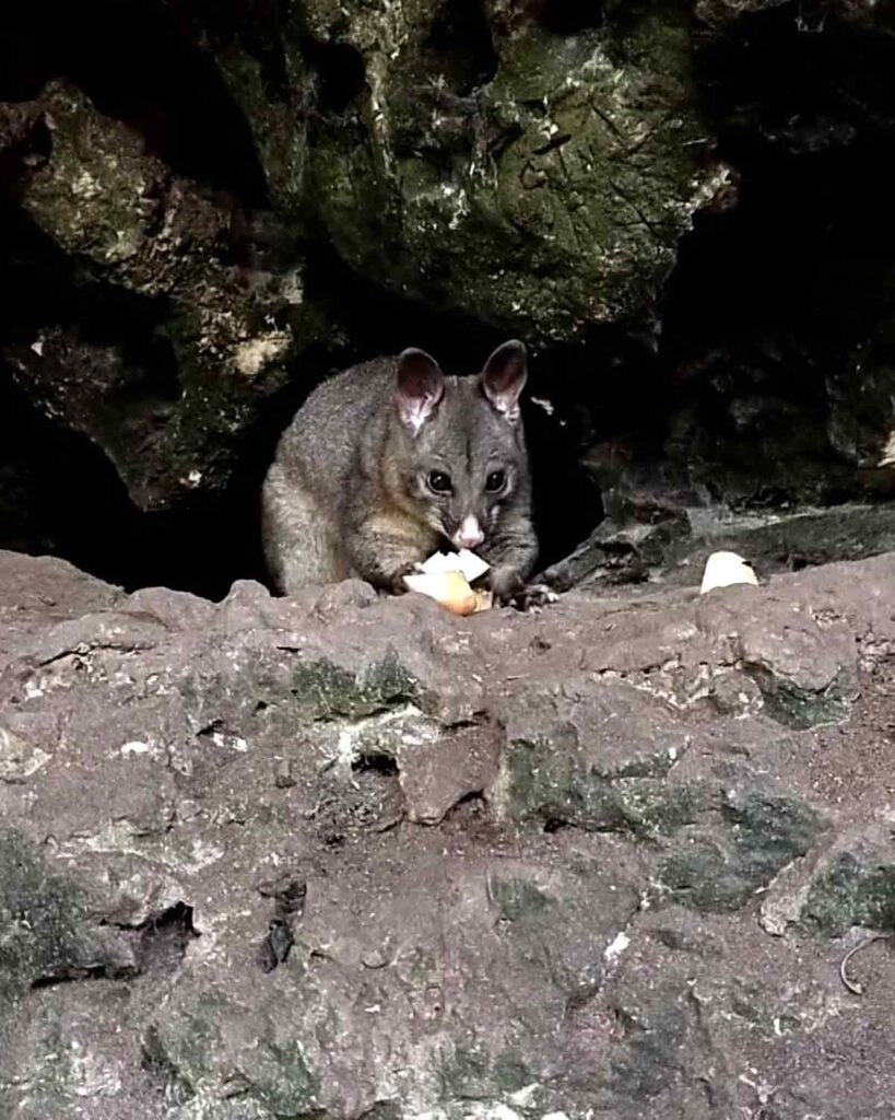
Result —
[{"label": "jagged lichen-spotted rock hanging left of the possum", "polygon": [[[47,86],[28,123],[35,232],[12,253],[37,251],[34,282],[56,282],[41,321],[4,339],[16,380],[103,448],[140,507],[219,486],[224,452],[298,345],[286,316],[301,304],[300,262],[276,277],[236,267],[226,202],[172,175],[75,87]],[[46,239],[77,262],[68,286],[47,277]],[[143,321],[123,333],[113,307],[91,316],[103,299]]]}]

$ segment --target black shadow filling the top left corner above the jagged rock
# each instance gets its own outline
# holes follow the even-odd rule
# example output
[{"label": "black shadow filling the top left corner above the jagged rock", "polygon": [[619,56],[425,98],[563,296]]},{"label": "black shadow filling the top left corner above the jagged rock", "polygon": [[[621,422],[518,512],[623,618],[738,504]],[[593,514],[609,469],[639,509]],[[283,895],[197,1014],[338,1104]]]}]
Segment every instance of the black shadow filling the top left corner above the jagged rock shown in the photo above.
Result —
[{"label": "black shadow filling the top left corner above the jagged rock", "polygon": [[[284,85],[263,24],[243,22],[267,88]],[[47,82],[69,82],[101,113],[141,132],[173,171],[263,208],[267,187],[251,129],[213,54],[197,46],[200,38],[226,43],[239,26],[233,3],[12,4],[0,20],[0,101],[27,101]]]}]

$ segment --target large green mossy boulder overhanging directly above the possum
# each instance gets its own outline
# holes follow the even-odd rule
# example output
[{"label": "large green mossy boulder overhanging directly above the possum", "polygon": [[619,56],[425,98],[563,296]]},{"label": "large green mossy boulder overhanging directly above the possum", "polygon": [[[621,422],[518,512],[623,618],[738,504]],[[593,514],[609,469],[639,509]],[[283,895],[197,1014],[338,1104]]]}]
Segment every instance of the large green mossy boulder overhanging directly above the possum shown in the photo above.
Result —
[{"label": "large green mossy boulder overhanging directly above the possum", "polygon": [[686,15],[650,6],[571,37],[527,22],[494,40],[497,75],[467,96],[426,55],[433,11],[313,17],[339,25],[373,90],[310,140],[310,200],[339,252],[528,336],[638,315],[707,178]]}]

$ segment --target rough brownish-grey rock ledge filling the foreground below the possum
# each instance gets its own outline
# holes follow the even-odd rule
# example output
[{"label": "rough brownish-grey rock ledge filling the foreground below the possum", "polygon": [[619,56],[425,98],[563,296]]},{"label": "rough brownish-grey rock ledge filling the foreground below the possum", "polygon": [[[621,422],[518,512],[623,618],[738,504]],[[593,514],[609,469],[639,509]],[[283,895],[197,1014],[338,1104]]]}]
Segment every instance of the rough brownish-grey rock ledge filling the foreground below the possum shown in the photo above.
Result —
[{"label": "rough brownish-grey rock ledge filling the foreground below the possum", "polygon": [[892,946],[839,964],[895,930],[893,588],[458,620],[0,553],[0,1111],[888,1117]]}]

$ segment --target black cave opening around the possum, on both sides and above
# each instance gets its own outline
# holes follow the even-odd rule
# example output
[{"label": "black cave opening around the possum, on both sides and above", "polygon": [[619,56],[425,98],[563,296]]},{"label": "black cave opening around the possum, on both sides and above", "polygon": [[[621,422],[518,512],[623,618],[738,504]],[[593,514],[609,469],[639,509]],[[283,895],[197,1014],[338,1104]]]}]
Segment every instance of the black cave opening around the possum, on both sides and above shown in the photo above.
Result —
[{"label": "black cave opening around the possum, on both sides and above", "polygon": [[[234,449],[229,485],[190,495],[180,507],[140,510],[102,449],[41,414],[0,363],[0,548],[57,556],[128,590],[164,586],[219,599],[236,579],[266,584],[261,485],[280,431],[313,384],[407,345],[430,351],[445,372],[465,374],[505,340],[473,320],[408,306],[322,251],[314,276],[321,289],[346,293],[350,351],[321,343],[307,354],[301,380],[263,402]],[[603,516],[599,486],[581,463],[590,421],[576,403],[573,366],[571,353],[530,356],[524,416],[539,567],[566,556]]]}]

